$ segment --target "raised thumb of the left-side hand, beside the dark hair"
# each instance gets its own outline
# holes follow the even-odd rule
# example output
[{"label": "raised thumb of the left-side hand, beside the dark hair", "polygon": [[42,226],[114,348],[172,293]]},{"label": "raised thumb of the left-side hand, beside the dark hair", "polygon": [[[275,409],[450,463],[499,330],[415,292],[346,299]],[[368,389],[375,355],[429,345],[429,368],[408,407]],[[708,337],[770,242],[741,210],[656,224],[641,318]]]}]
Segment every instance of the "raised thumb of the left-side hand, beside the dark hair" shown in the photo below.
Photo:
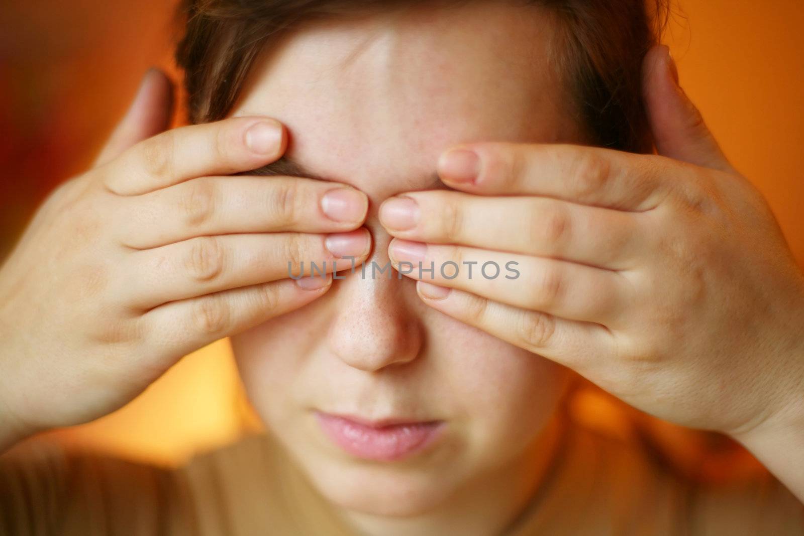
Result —
[{"label": "raised thumb of the left-side hand, beside the dark hair", "polygon": [[173,84],[166,74],[150,68],[142,78],[128,112],[100,150],[95,165],[101,166],[138,141],[155,136],[170,126],[173,115]]}]

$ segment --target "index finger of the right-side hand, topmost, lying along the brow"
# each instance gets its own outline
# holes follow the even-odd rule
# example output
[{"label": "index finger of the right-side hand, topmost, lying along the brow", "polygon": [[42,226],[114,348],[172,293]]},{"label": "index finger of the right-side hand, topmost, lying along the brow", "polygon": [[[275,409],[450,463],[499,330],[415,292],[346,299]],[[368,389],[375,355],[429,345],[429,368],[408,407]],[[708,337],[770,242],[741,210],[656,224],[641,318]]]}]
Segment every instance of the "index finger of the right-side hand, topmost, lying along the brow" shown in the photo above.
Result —
[{"label": "index finger of the right-side hand, topmost, lying along the brow", "polygon": [[585,147],[476,143],[441,155],[438,174],[474,194],[530,194],[621,211],[650,211],[691,171],[669,158]]}]

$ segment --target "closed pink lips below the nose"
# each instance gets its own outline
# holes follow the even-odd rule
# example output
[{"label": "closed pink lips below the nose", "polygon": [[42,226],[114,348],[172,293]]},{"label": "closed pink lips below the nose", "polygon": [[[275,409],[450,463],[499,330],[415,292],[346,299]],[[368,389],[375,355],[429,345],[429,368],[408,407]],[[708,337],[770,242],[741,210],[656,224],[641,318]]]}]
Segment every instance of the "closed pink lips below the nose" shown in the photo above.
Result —
[{"label": "closed pink lips below the nose", "polygon": [[411,456],[431,444],[441,432],[441,421],[367,426],[335,415],[316,412],[318,423],[343,450],[367,460],[392,461]]}]

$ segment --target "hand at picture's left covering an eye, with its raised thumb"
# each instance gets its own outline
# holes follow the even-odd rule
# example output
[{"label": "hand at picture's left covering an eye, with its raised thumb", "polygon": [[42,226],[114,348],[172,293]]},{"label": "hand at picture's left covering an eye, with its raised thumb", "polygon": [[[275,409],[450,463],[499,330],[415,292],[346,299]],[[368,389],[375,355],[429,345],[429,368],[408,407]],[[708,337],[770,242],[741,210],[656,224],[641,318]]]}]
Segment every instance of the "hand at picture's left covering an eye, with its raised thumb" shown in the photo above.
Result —
[{"label": "hand at picture's left covering an eye, with its raised thumb", "polygon": [[281,158],[281,124],[159,133],[169,103],[150,72],[99,163],[47,198],[0,268],[0,451],[105,415],[183,355],[326,293],[331,273],[293,280],[289,261],[367,257],[362,192],[224,176]]}]

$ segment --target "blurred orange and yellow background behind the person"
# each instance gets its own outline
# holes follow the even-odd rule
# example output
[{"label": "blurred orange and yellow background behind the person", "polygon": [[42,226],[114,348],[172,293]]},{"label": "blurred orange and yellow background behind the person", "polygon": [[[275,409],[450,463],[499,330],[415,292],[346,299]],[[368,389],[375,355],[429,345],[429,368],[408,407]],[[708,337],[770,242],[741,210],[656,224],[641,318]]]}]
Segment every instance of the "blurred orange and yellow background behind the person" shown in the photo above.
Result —
[{"label": "blurred orange and yellow background behind the person", "polygon": [[[176,78],[173,5],[3,2],[0,260],[54,186],[92,162],[146,69],[156,65]],[[801,0],[679,0],[665,42],[687,93],[737,169],[768,198],[804,265],[802,27]],[[572,411],[591,426],[630,433],[621,407],[594,389],[581,391]],[[717,477],[753,466],[718,436],[647,425],[673,456],[720,452],[708,465],[697,461],[697,471]],[[259,428],[224,339],[184,358],[120,411],[50,435],[134,460],[179,464]]]}]

